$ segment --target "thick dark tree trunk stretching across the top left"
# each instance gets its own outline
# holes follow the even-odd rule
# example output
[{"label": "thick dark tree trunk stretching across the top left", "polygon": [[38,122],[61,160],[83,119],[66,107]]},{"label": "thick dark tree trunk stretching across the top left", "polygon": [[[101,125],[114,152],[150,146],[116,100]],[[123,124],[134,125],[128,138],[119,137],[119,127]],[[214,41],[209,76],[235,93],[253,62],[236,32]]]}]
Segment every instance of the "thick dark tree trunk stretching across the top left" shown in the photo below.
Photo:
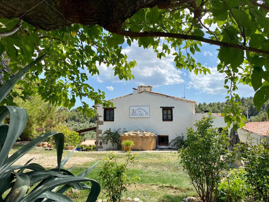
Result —
[{"label": "thick dark tree trunk stretching across the top left", "polygon": [[98,24],[113,31],[140,8],[171,3],[169,0],[0,0],[0,18],[20,18],[53,30],[71,24]]}]

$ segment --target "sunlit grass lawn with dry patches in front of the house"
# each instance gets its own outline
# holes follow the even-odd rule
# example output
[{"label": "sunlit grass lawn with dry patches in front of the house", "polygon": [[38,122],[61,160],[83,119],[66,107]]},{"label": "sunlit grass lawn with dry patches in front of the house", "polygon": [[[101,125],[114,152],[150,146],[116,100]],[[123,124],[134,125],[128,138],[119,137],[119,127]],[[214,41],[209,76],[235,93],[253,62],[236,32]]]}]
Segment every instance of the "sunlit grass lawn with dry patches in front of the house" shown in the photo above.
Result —
[{"label": "sunlit grass lawn with dry patches in front of the house", "polygon": [[[15,149],[12,149],[10,153],[15,151]],[[63,156],[68,154],[68,151],[64,151]],[[100,183],[101,193],[98,198],[101,199],[108,199],[103,191],[104,187],[99,176],[102,165],[104,164],[103,158],[106,154],[108,153],[75,152],[72,158],[69,160],[69,165],[65,167],[70,168],[70,165],[74,165],[72,173],[74,175],[78,175],[93,165],[96,161],[101,160],[98,165],[86,176]],[[124,160],[124,152],[116,152],[116,154],[120,156],[119,159],[121,161]],[[40,163],[46,168],[54,167],[53,164],[50,165],[50,161],[54,161],[56,157],[55,150],[38,151],[37,149],[33,149],[32,151],[28,152],[24,158],[25,160],[27,158],[29,160],[35,156],[36,159],[33,162]],[[38,158],[42,158],[40,162],[38,162]],[[185,193],[187,196],[197,196],[192,184],[190,184],[186,174],[183,172],[182,165],[179,163],[177,152],[137,152],[136,159],[136,163],[128,166],[129,175],[137,175],[140,178],[140,181],[130,187],[128,191],[123,194],[123,196],[126,198],[137,197],[144,202],[178,202],[185,197]],[[23,162],[18,162],[17,164],[23,164]],[[90,183],[88,184],[90,185]],[[82,202],[86,201],[88,193],[88,190],[80,191],[79,193],[71,193],[69,191],[66,193],[66,195],[71,197],[74,201]]]}]

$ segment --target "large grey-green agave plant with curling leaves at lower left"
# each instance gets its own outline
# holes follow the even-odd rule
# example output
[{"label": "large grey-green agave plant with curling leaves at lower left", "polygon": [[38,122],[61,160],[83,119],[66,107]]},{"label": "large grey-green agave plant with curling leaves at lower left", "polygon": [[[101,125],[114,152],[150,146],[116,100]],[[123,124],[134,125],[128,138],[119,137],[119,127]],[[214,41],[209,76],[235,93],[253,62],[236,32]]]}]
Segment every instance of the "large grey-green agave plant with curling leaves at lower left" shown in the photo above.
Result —
[{"label": "large grey-green agave plant with curling leaves at lower left", "polygon": [[[37,64],[42,58],[41,56],[31,62],[29,65],[20,70],[13,78],[7,81],[0,88],[0,102],[8,95],[17,81],[27,72],[31,67]],[[10,116],[9,125],[3,124],[2,121]],[[74,176],[70,171],[72,168],[66,170],[63,166],[73,154],[73,149],[70,154],[62,161],[64,136],[59,132],[48,132],[41,134],[14,154],[8,157],[10,148],[19,138],[22,133],[26,121],[27,112],[25,109],[15,106],[0,106],[0,201],[3,202],[38,202],[38,201],[73,201],[69,197],[63,195],[65,191],[71,187],[76,190],[90,189],[89,196],[86,202],[96,201],[100,193],[100,185],[92,179],[85,176],[97,165],[95,163],[91,168]],[[19,158],[21,158],[28,151],[33,149],[37,144],[54,135],[57,164],[54,169],[46,170],[37,163],[30,163],[30,159],[25,165],[13,165]],[[30,170],[25,172],[26,170]],[[91,187],[83,182],[91,182]],[[34,188],[29,191],[29,187]],[[11,189],[10,189],[11,188]],[[7,195],[6,191],[10,190]],[[5,195],[5,198],[3,198]]]}]

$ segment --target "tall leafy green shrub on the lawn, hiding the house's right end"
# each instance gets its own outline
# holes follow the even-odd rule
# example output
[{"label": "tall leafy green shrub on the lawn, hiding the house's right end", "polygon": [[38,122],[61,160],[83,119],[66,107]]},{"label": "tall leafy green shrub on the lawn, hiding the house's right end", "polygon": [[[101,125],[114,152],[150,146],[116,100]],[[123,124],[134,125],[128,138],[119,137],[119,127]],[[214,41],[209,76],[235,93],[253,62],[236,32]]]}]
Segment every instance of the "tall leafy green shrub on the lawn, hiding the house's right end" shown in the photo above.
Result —
[{"label": "tall leafy green shrub on the lawn, hiding the house's right end", "polygon": [[194,124],[197,130],[187,128],[186,148],[179,150],[180,162],[190,178],[201,200],[215,201],[221,171],[226,167],[229,155],[225,147],[228,145],[228,135],[219,133],[212,127],[213,117],[203,116]]}]

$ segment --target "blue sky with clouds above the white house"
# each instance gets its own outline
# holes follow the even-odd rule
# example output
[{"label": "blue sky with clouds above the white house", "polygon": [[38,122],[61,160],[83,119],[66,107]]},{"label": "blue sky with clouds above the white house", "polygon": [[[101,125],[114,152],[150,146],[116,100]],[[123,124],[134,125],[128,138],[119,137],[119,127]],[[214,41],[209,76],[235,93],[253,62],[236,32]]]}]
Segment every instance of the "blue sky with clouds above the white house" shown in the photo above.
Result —
[{"label": "blue sky with clouds above the white house", "polygon": [[[132,88],[137,85],[153,85],[153,91],[167,95],[183,97],[184,85],[186,99],[199,102],[222,102],[225,101],[227,91],[224,89],[224,74],[217,72],[218,46],[203,43],[200,47],[201,53],[196,52],[194,58],[203,66],[211,71],[211,75],[195,75],[189,70],[176,69],[173,51],[166,58],[158,59],[152,48],[144,49],[138,47],[137,42],[132,43],[131,47],[124,46],[123,53],[126,53],[128,60],[136,60],[137,66],[134,67],[132,73],[134,80],[120,81],[118,76],[114,76],[112,67],[106,67],[101,64],[98,67],[100,75],[90,74],[89,83],[95,90],[100,89],[105,92],[106,99],[112,99],[122,95],[132,93]],[[240,97],[249,97],[254,95],[252,87],[246,85],[238,85],[237,93]],[[93,105],[94,102],[88,98],[83,101]],[[75,107],[81,105],[77,99]]]}]

